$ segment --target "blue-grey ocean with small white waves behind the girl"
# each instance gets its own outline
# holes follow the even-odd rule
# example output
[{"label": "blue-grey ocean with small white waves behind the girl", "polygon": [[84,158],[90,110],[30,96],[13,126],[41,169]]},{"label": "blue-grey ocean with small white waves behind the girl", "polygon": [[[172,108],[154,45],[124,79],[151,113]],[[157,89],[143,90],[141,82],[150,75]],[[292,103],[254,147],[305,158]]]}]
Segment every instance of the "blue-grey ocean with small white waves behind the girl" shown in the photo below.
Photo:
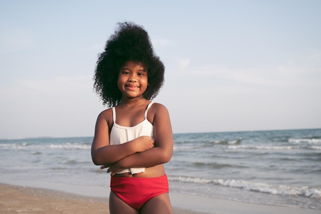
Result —
[{"label": "blue-grey ocean with small white waves behind the girl", "polygon": [[[0,182],[109,187],[93,137],[0,140]],[[321,210],[321,129],[176,133],[170,192]]]}]

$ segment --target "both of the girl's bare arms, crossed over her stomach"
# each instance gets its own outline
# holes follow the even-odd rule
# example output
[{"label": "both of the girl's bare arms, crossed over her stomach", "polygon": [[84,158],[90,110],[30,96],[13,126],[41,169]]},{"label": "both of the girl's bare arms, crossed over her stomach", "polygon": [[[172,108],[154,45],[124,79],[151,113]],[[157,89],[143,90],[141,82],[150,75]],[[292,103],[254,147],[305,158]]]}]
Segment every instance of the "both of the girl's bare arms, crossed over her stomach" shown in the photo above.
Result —
[{"label": "both of the girl's bare arms, crossed over her stomach", "polygon": [[[155,104],[154,104],[155,105]],[[109,145],[108,110],[99,114],[95,136],[91,147],[94,164],[109,167],[107,172],[116,172],[130,167],[152,167],[164,164],[171,159],[173,134],[168,110],[155,105],[154,139],[142,136],[119,145]]]}]

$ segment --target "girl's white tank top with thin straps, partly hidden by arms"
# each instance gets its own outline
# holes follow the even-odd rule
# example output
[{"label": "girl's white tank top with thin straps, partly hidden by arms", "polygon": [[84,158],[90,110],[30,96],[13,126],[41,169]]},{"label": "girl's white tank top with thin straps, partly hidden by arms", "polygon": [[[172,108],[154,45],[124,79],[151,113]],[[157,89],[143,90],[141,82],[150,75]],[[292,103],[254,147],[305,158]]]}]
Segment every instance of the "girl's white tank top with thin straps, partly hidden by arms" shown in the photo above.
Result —
[{"label": "girl's white tank top with thin straps, partly hidden by arms", "polygon": [[[154,140],[154,126],[147,120],[147,111],[152,104],[153,102],[151,102],[147,106],[147,109],[144,114],[144,121],[132,127],[119,126],[118,124],[115,123],[116,111],[115,111],[115,107],[113,107],[112,111],[113,111],[114,125],[110,131],[109,144],[118,145],[118,144],[126,143],[128,141],[134,140],[144,135],[149,136]],[[128,168],[117,172],[117,174],[121,174],[125,172],[131,172],[131,174],[135,174],[135,173],[140,173],[144,171],[145,171],[145,168]]]}]

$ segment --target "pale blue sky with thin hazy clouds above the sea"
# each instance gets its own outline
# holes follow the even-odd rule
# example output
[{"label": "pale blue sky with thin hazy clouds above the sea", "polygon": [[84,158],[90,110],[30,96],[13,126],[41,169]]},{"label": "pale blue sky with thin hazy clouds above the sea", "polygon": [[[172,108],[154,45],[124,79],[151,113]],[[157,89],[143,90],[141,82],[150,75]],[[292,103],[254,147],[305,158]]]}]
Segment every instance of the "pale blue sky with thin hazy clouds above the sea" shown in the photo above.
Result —
[{"label": "pale blue sky with thin hazy clouds above the sea", "polygon": [[91,137],[116,23],[163,61],[174,133],[321,128],[321,1],[0,0],[0,139]]}]

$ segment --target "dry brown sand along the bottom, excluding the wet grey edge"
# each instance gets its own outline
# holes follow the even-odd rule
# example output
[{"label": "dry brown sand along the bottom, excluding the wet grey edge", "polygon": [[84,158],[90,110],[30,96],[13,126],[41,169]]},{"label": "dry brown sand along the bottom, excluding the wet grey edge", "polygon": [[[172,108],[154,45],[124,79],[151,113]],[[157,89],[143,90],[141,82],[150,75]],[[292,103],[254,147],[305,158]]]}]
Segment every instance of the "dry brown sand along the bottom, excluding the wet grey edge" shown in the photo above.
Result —
[{"label": "dry brown sand along the bottom, excluding the wet grey edge", "polygon": [[[108,214],[108,199],[76,194],[0,184],[0,214]],[[200,214],[180,208],[174,214]]]}]

